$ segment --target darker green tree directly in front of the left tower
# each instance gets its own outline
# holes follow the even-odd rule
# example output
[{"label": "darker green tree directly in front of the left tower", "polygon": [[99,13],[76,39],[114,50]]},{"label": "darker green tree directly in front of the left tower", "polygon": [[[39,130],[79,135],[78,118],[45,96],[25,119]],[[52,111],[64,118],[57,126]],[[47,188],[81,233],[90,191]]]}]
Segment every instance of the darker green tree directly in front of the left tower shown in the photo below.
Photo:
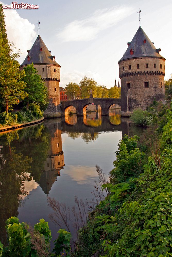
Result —
[{"label": "darker green tree directly in front of the left tower", "polygon": [[24,99],[27,110],[31,103],[35,103],[40,106],[41,110],[45,110],[49,102],[49,97],[48,89],[44,81],[42,81],[41,76],[37,74],[38,71],[34,68],[33,62],[23,69],[25,71],[25,77],[23,77],[22,80],[26,84],[25,92],[28,94]]}]

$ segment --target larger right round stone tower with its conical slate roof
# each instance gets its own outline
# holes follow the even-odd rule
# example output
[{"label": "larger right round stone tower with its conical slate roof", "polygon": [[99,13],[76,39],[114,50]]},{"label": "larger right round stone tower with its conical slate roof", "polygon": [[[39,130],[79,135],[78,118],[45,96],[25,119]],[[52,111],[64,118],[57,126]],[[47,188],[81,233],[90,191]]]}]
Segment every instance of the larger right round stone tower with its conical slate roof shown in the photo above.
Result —
[{"label": "larger right round stone tower with its conical slate roof", "polygon": [[119,60],[121,111],[145,110],[156,99],[164,100],[165,58],[141,26]]}]

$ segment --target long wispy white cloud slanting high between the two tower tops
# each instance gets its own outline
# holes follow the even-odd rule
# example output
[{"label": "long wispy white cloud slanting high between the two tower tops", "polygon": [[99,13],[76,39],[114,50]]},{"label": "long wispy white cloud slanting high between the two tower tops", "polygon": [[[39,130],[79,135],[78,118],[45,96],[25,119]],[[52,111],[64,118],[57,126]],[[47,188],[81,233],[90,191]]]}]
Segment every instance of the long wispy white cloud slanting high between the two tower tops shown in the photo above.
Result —
[{"label": "long wispy white cloud slanting high between the two tower tops", "polygon": [[116,25],[133,12],[132,7],[126,6],[99,9],[86,19],[66,24],[57,36],[63,42],[89,41],[96,38],[99,32]]}]

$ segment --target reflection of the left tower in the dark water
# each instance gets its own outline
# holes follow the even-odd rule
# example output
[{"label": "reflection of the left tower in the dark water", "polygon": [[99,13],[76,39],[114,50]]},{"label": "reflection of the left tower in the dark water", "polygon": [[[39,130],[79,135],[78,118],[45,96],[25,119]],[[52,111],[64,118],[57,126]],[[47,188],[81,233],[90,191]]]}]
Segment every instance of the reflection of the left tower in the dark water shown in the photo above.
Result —
[{"label": "reflection of the left tower in the dark water", "polygon": [[65,163],[62,151],[61,124],[48,120],[44,122],[44,125],[49,130],[51,142],[44,165],[44,171],[42,172],[38,183],[45,194],[48,195],[54,182],[57,181],[57,177],[60,176],[60,170],[63,169]]}]

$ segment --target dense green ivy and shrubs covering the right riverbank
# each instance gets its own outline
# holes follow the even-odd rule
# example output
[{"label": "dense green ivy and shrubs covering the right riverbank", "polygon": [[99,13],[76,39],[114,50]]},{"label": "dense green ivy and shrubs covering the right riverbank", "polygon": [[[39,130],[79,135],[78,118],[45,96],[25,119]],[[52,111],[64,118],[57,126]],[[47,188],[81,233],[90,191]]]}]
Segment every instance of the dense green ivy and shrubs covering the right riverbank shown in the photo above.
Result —
[{"label": "dense green ivy and shrubs covering the right riverbank", "polygon": [[172,104],[161,105],[157,119],[142,139],[119,142],[102,185],[107,196],[89,213],[71,256],[172,256]]}]

